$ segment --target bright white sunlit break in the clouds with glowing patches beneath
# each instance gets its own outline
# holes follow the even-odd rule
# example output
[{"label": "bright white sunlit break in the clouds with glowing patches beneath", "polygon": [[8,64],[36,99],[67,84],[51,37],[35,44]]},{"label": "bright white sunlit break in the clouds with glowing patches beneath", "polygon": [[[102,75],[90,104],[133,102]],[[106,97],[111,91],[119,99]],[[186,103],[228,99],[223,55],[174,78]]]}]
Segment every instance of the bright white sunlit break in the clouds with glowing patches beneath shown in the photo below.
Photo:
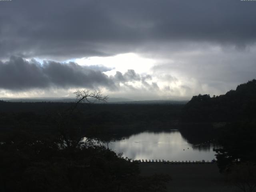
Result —
[{"label": "bright white sunlit break in the clouds with glowing patches beneath", "polygon": [[[94,66],[94,65],[102,65],[106,66],[108,68],[111,68],[112,70],[103,72],[104,74],[108,76],[114,76],[117,71],[124,74],[127,72],[127,70],[132,69],[136,72],[136,74],[139,74],[141,77],[150,75],[151,79],[147,79],[146,83],[149,86],[152,86],[152,84],[157,84],[159,87],[159,90],[155,89],[152,90],[152,87],[145,87],[145,84],[143,84],[141,81],[132,81],[132,82],[126,82],[126,86],[122,83],[120,83],[121,89],[117,92],[108,92],[105,88],[102,88],[104,92],[107,92],[110,95],[114,95],[116,97],[126,97],[129,94],[131,94],[130,98],[133,98],[136,95],[144,95],[145,99],[170,99],[172,96],[186,96],[186,93],[179,88],[180,84],[182,84],[178,79],[176,80],[170,80],[168,76],[169,72],[166,73],[160,73],[156,74],[154,72],[154,66],[158,65],[159,62],[163,62],[163,59],[161,58],[146,58],[142,57],[135,53],[124,53],[124,54],[118,54],[115,56],[108,56],[108,57],[99,57],[99,56],[93,56],[93,57],[85,57],[85,58],[76,58],[72,60],[68,60],[66,62],[76,62],[77,64],[81,66]],[[168,62],[174,62],[173,60],[168,59]],[[167,78],[166,78],[167,77]],[[136,90],[129,90],[127,86],[131,86],[135,88]],[[152,95],[151,97],[149,97]],[[172,95],[172,96],[171,96]],[[142,98],[138,98],[142,99]]]}]

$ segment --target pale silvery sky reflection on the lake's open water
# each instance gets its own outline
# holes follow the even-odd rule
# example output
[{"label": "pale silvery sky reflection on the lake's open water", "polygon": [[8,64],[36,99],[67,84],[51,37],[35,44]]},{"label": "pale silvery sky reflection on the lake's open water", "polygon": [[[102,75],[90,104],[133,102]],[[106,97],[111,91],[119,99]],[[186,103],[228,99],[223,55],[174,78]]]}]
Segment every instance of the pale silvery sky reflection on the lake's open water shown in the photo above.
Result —
[{"label": "pale silvery sky reflection on the lake's open water", "polygon": [[212,144],[194,146],[179,131],[142,132],[110,142],[109,148],[131,159],[164,159],[170,161],[212,160],[215,158]]}]

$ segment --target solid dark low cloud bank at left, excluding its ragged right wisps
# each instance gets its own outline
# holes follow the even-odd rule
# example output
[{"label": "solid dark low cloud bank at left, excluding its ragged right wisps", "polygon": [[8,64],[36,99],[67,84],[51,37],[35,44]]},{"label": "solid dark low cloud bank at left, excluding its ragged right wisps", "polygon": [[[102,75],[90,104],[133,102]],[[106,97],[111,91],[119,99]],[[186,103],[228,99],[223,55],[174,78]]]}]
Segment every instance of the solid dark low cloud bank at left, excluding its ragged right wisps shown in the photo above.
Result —
[{"label": "solid dark low cloud bank at left, excluding its ragged right wisps", "polygon": [[116,88],[97,66],[80,66],[74,62],[60,63],[36,60],[26,61],[11,57],[7,62],[0,61],[0,88],[7,90],[26,90],[31,88],[95,88],[104,86],[109,90]]}]

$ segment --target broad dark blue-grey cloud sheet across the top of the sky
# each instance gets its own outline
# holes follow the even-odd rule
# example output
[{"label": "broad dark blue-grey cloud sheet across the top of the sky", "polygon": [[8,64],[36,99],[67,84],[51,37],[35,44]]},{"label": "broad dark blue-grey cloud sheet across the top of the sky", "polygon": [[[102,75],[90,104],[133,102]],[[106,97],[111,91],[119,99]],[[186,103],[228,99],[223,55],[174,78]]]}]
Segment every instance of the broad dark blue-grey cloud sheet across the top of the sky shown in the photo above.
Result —
[{"label": "broad dark blue-grey cloud sheet across the top of the sky", "polygon": [[[202,41],[256,40],[256,2],[240,0],[16,0],[0,2],[0,57],[64,60]],[[148,49],[154,49],[151,46]]]}]

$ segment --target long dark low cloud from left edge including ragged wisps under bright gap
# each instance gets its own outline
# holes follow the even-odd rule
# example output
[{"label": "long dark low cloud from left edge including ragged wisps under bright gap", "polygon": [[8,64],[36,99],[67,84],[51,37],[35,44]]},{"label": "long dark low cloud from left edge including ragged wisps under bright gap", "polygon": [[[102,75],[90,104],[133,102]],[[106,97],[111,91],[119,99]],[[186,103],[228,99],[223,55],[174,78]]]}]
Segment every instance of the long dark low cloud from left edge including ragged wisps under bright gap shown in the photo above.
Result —
[{"label": "long dark low cloud from left edge including ragged wisps under bright gap", "polygon": [[40,64],[35,59],[25,60],[12,56],[6,62],[0,61],[0,89],[22,91],[45,88],[106,88],[118,91],[120,83],[122,86],[135,89],[132,84],[136,82],[142,82],[146,88],[157,88],[156,82],[149,84],[145,81],[152,79],[150,75],[141,76],[130,69],[124,74],[117,71],[114,76],[107,76],[103,73],[106,70],[111,69],[50,60],[44,60]]}]

